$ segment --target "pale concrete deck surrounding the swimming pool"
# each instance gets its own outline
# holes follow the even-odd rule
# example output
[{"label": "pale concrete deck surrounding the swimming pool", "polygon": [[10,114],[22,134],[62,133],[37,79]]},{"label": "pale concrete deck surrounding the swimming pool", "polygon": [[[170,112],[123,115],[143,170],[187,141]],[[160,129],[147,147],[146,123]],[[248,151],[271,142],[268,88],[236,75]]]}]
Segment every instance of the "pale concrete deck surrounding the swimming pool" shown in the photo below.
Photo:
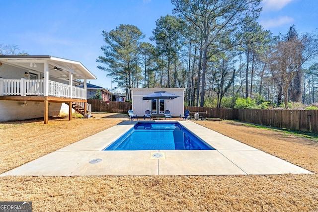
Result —
[{"label": "pale concrete deck surrounding the swimming pool", "polygon": [[[120,123],[0,176],[312,174],[191,121],[179,123],[216,150],[101,151],[136,123]],[[96,158],[101,161],[89,163]]]}]

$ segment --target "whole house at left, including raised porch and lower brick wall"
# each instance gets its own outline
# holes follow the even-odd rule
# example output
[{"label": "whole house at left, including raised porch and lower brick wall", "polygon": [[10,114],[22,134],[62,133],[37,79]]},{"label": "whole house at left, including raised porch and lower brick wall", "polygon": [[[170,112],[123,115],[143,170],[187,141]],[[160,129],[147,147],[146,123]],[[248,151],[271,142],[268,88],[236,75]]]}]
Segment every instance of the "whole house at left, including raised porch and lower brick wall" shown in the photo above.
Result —
[{"label": "whole house at left, including raised porch and lower brick wall", "polygon": [[[68,104],[90,112],[86,80],[96,79],[80,62],[53,56],[0,55],[0,122],[59,115]],[[83,80],[83,88],[76,87]]]}]

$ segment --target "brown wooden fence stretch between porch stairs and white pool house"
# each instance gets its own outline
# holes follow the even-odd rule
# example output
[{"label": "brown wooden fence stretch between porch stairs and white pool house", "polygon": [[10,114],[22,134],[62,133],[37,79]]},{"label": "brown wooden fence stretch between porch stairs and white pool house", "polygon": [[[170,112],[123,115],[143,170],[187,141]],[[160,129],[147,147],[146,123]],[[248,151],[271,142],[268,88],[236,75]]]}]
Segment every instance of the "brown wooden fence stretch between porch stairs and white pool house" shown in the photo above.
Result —
[{"label": "brown wooden fence stretch between porch stairs and white pool house", "polygon": [[131,110],[131,102],[112,102],[100,101],[98,99],[87,99],[87,103],[91,104],[91,111],[94,112],[128,114],[128,110]]}]

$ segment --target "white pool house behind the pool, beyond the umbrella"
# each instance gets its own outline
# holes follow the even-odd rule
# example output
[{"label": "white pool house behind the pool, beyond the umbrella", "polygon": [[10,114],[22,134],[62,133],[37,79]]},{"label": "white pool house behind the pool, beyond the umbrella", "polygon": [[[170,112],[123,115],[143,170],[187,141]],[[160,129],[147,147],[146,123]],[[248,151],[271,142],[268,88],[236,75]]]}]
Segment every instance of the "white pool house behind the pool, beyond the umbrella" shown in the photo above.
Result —
[{"label": "white pool house behind the pool, beyond the umbrella", "polygon": [[[175,99],[143,100],[143,97],[155,91],[166,91],[167,93],[179,95]],[[143,117],[146,110],[152,115],[162,115],[169,110],[173,117],[184,114],[184,88],[132,88],[132,110],[134,114]]]}]

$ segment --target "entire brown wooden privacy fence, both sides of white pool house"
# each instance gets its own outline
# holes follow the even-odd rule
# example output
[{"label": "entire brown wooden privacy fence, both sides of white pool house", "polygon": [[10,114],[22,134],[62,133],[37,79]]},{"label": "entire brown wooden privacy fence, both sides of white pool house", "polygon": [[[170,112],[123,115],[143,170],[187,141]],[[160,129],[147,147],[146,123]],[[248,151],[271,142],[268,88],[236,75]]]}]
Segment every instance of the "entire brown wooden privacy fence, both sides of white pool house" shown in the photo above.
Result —
[{"label": "entire brown wooden privacy fence, both sides of white pool house", "polygon": [[[92,111],[123,113],[131,110],[131,102],[106,102],[97,99],[87,99]],[[184,107],[190,112],[201,112],[203,118],[220,118],[239,120],[259,125],[286,128],[293,131],[318,133],[318,110],[251,110],[210,107]],[[191,114],[193,115],[193,114]]]}]

